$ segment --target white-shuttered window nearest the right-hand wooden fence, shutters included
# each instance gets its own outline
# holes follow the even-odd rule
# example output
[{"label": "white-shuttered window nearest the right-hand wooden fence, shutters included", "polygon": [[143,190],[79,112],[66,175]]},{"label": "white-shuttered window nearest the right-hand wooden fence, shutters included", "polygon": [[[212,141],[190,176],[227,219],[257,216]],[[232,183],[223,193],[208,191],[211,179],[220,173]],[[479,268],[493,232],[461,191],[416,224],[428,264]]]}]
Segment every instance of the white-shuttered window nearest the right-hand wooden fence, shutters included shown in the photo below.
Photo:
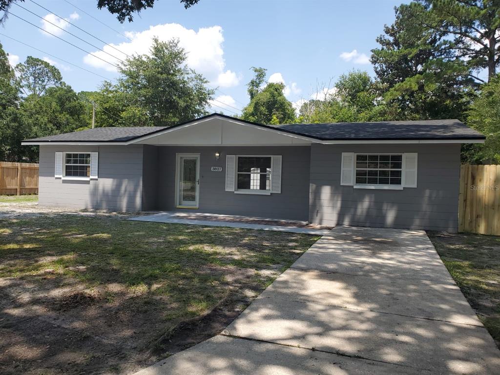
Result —
[{"label": "white-shuttered window nearest the right-hand wooden fence, shutters included", "polygon": [[342,152],[340,185],[392,190],[416,187],[417,156],[416,152]]}]

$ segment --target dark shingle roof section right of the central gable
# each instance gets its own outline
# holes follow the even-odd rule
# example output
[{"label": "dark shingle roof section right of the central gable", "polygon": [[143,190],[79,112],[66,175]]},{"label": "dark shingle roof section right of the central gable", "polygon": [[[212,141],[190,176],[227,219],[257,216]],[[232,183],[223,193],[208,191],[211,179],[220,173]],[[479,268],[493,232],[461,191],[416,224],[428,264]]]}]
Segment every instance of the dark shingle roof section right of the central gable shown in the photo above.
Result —
[{"label": "dark shingle roof section right of the central gable", "polygon": [[456,119],[294,123],[277,127],[322,140],[484,139],[480,132]]}]

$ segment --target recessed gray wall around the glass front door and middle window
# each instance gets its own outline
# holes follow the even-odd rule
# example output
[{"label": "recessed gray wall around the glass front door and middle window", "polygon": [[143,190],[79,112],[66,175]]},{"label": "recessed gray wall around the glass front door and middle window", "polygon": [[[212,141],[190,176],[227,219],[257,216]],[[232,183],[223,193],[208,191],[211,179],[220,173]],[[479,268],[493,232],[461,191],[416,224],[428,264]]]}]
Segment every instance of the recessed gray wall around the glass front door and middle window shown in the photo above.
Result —
[{"label": "recessed gray wall around the glass front door and middle window", "polygon": [[[215,160],[215,152],[220,158]],[[175,209],[175,155],[200,153],[199,209],[196,212],[225,213],[291,220],[308,219],[309,146],[292,147],[158,147],[158,209]],[[235,194],[225,191],[225,156],[282,155],[281,193]],[[222,172],[210,171],[221,166]]]}]

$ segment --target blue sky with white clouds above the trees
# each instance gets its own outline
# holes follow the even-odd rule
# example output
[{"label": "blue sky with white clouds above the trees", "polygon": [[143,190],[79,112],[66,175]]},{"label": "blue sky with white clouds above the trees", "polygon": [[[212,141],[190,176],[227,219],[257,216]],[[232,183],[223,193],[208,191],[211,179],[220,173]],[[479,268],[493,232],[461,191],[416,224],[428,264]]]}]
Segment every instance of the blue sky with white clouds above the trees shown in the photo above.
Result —
[{"label": "blue sky with white clouds above the trees", "polygon": [[[177,0],[159,0],[152,9],[120,24],[106,9],[99,10],[95,0],[68,0],[128,38],[92,19],[62,0],[38,4],[66,18],[78,27],[113,45],[126,54],[147,52],[152,36],[168,40],[178,37],[188,51],[188,64],[202,73],[210,85],[218,86],[212,108],[224,107],[226,114],[239,113],[247,102],[245,84],[251,79],[251,66],[267,68],[270,81],[284,81],[285,94],[292,102],[316,95],[317,85],[326,85],[353,68],[373,73],[368,62],[370,49],[377,46],[375,37],[383,25],[394,19],[393,7],[401,0],[353,1],[214,1],[200,0],[184,9]],[[20,3],[65,30],[104,49],[110,55],[124,54],[105,46],[76,27],[50,14],[30,0]],[[99,51],[66,32],[44,22],[16,5],[11,12],[57,34],[103,60],[116,63],[109,54]],[[94,56],[48,35],[10,15],[0,32],[46,53],[22,45],[3,35],[0,42],[12,63],[27,55],[55,62],[63,79],[74,90],[97,89],[102,78],[71,66],[49,54],[112,79],[115,68]],[[228,106],[222,104],[226,103]],[[218,106],[216,106],[218,105]]]}]

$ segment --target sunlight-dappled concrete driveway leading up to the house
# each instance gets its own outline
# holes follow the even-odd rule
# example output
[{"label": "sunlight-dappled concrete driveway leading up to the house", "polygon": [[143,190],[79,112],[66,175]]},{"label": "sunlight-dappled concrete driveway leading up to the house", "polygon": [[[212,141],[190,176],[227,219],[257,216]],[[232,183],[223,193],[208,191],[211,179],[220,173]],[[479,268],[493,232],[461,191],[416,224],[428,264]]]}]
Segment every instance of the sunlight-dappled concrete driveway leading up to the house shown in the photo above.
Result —
[{"label": "sunlight-dappled concrete driveway leading up to the house", "polygon": [[217,336],[137,373],[500,374],[419,230],[336,227]]}]

